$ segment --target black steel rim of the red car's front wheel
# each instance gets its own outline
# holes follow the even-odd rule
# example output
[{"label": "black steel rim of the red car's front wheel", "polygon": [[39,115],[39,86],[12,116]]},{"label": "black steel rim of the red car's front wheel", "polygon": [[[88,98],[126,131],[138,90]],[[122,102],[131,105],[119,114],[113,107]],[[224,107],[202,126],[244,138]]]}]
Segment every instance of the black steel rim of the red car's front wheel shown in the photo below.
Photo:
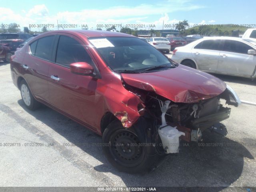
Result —
[{"label": "black steel rim of the red car's front wheel", "polygon": [[111,154],[119,164],[131,167],[142,160],[142,145],[134,133],[120,130],[112,136],[110,142]]}]

